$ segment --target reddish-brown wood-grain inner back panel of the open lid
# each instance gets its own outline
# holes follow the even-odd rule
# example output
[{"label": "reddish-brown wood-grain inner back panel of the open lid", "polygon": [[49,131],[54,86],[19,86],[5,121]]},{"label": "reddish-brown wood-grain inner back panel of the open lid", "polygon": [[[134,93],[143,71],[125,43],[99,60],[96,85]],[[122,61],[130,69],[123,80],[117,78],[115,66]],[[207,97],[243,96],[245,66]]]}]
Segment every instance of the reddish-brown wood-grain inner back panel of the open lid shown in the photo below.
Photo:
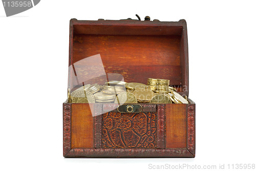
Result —
[{"label": "reddish-brown wood-grain inner back panel of the open lid", "polygon": [[[171,84],[181,84],[180,36],[81,34],[76,37],[80,40],[74,40],[73,62],[100,54],[105,73],[121,74],[126,82],[146,83],[147,78],[160,75]],[[76,74],[93,75],[95,68],[100,68],[98,63],[79,61],[82,66],[79,69],[76,66]]]}]

